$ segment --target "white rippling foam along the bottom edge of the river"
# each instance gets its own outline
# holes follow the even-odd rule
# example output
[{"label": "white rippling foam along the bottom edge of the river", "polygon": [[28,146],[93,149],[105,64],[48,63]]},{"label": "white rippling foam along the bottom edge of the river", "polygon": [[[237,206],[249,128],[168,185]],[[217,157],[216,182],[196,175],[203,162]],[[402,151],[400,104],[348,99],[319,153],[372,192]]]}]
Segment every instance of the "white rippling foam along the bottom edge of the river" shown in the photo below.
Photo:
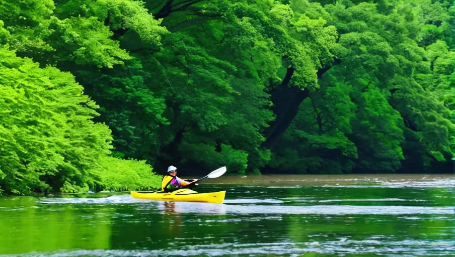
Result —
[{"label": "white rippling foam along the bottom edge of the river", "polygon": [[413,240],[399,241],[387,238],[365,238],[363,240],[351,240],[348,237],[335,238],[331,241],[310,241],[296,243],[292,241],[268,242],[268,243],[214,243],[179,247],[180,249],[166,248],[155,250],[60,250],[54,252],[30,252],[20,255],[3,255],[5,257],[67,257],[67,256],[235,256],[255,254],[286,254],[298,256],[305,252],[349,254],[349,253],[372,253],[382,256],[453,256],[455,243],[451,240]]}]

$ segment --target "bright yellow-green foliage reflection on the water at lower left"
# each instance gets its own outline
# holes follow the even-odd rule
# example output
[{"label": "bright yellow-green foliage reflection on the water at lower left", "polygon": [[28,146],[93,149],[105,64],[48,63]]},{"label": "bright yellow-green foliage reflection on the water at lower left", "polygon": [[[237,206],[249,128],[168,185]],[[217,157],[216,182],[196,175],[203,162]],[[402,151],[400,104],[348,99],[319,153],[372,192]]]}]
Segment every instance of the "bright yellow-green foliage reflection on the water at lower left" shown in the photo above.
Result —
[{"label": "bright yellow-green foliage reflection on the water at lower left", "polygon": [[109,207],[37,205],[32,197],[5,202],[13,206],[0,212],[0,254],[110,247],[113,211]]}]

